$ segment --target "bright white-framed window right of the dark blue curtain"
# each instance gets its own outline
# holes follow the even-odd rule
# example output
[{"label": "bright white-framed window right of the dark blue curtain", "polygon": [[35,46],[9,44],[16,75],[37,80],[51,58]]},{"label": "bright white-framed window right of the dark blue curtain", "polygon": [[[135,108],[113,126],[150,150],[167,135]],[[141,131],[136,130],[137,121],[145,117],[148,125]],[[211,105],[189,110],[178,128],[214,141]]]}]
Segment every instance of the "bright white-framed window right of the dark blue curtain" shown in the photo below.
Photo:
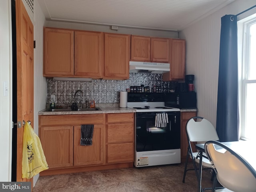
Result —
[{"label": "bright white-framed window right of the dark blue curtain", "polygon": [[256,140],[256,17],[242,22],[242,26],[242,53],[238,49],[238,55],[242,54],[239,89],[240,138]]}]

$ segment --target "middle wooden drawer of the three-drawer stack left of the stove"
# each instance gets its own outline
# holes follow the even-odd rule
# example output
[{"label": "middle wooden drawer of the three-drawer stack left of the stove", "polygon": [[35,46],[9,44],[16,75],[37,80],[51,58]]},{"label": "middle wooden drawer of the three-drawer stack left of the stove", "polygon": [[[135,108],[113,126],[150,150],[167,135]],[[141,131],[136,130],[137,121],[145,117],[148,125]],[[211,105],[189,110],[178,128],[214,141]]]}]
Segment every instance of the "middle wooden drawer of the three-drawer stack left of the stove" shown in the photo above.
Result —
[{"label": "middle wooden drawer of the three-drawer stack left of the stove", "polygon": [[108,124],[107,143],[133,142],[134,124]]}]

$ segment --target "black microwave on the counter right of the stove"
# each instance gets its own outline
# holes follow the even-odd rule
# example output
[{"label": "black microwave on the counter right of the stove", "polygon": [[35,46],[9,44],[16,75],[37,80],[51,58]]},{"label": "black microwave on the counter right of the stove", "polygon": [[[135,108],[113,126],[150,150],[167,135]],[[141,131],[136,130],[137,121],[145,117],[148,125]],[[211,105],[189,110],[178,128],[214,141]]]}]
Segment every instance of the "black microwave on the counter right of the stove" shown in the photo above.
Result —
[{"label": "black microwave on the counter right of the stove", "polygon": [[165,93],[164,105],[180,109],[197,108],[196,92]]}]

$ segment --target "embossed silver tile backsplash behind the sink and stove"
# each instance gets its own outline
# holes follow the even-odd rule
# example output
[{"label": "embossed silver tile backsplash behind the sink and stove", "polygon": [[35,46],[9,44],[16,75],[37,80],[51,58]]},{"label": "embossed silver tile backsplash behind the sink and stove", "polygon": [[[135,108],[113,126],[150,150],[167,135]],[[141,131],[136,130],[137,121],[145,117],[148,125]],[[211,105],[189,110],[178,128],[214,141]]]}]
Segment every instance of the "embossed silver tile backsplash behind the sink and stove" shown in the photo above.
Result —
[{"label": "embossed silver tile backsplash behind the sink and stove", "polygon": [[126,91],[130,86],[161,86],[162,92],[168,92],[169,82],[162,81],[162,74],[130,73],[128,80],[92,80],[92,82],[80,81],[54,81],[47,78],[46,103],[50,103],[51,95],[56,96],[56,103],[74,102],[76,90],[82,90],[76,95],[77,103],[86,100],[95,100],[95,103],[119,103],[120,91]]}]

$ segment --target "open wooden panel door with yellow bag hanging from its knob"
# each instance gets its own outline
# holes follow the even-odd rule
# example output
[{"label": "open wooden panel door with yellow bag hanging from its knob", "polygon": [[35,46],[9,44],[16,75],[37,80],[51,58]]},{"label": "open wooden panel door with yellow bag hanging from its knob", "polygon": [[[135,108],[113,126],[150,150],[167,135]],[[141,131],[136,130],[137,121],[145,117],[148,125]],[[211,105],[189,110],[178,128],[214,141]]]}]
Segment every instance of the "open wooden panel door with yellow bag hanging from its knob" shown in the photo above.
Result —
[{"label": "open wooden panel door with yellow bag hanging from its knob", "polygon": [[[17,44],[17,181],[22,179],[23,120],[34,122],[34,26],[22,0],[16,0],[16,44]],[[33,186],[33,184],[32,184]]]}]

